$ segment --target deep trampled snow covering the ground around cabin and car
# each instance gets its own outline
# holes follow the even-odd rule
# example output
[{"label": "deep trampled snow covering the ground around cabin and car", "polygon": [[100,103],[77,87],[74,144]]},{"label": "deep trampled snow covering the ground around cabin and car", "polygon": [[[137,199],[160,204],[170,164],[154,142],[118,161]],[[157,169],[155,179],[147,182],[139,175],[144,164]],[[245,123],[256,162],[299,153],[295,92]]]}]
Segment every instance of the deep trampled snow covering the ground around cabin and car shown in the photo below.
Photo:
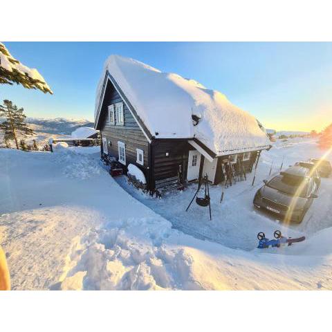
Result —
[{"label": "deep trampled snow covering the ground around cabin and car", "polygon": [[[332,178],[301,225],[283,227],[252,208],[272,158],[277,172],[283,157],[286,167],[323,152],[310,140],[276,142],[254,188],[249,176],[219,204],[221,187],[212,187],[210,221],[197,205],[185,212],[196,185],[161,200],[133,192],[100,167],[99,147],[0,149],[0,243],[12,288],[332,289]],[[255,249],[257,232],[275,229],[308,239]]]}]

